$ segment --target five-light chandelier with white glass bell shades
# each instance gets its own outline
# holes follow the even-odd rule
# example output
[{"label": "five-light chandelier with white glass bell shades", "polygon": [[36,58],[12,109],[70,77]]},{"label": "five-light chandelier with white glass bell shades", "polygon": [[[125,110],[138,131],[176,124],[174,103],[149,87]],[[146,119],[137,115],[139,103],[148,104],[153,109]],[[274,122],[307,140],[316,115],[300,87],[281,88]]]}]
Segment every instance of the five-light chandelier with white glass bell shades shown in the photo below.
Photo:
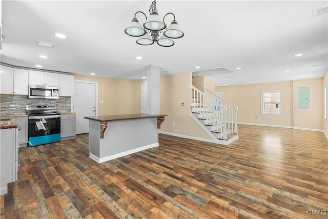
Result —
[{"label": "five-light chandelier with white glass bell shades", "polygon": [[[138,19],[136,18],[137,13],[142,13],[146,17],[146,22],[144,23],[143,28],[141,27]],[[154,0],[152,5],[150,6],[149,13],[150,16],[147,18],[144,12],[137,11],[134,14],[134,18],[132,19],[132,24],[130,25],[130,27],[125,29],[125,33],[130,36],[142,36],[141,38],[137,39],[137,44],[147,46],[152,45],[156,42],[159,46],[170,47],[174,45],[174,41],[172,39],[181,38],[183,35],[185,35],[180,30],[178,23],[175,21],[175,15],[173,13],[167,13],[163,17],[163,21],[161,21],[156,9],[156,0]],[[164,19],[168,14],[172,14],[174,19],[171,25],[167,28]],[[162,33],[163,29],[166,30],[163,32],[163,35],[159,37],[159,34]],[[150,35],[147,32],[150,33]]]}]

